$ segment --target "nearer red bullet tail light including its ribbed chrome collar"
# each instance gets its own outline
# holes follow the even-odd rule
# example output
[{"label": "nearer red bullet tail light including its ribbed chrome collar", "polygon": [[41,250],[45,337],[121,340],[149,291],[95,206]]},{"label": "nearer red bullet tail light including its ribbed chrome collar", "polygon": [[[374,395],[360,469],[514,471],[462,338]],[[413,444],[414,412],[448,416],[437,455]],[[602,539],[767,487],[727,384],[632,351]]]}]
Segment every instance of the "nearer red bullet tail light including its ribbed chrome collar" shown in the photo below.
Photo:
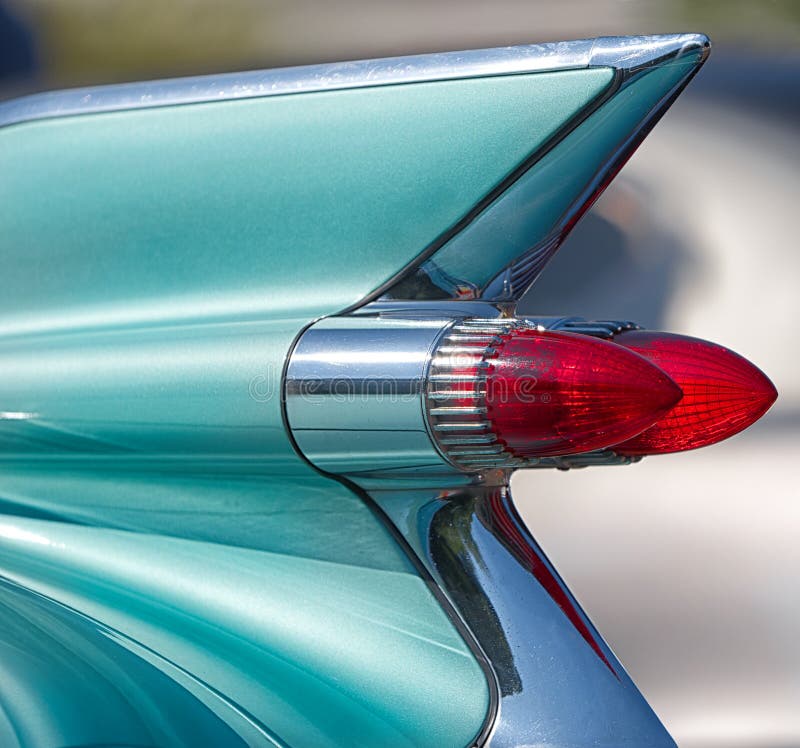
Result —
[{"label": "nearer red bullet tail light including its ribbed chrome collar", "polygon": [[609,447],[647,429],[681,395],[664,371],[614,343],[474,320],[439,345],[426,399],[442,453],[478,469]]}]

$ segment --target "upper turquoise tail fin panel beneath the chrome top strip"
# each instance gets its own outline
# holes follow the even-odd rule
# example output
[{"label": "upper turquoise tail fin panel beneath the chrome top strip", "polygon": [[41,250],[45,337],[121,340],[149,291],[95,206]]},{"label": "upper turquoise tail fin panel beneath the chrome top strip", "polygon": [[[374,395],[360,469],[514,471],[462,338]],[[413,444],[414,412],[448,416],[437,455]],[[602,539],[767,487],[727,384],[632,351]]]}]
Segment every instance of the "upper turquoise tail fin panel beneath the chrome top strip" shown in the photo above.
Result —
[{"label": "upper turquoise tail fin panel beneath the chrome top strip", "polygon": [[476,78],[3,128],[0,332],[335,312],[610,80]]}]

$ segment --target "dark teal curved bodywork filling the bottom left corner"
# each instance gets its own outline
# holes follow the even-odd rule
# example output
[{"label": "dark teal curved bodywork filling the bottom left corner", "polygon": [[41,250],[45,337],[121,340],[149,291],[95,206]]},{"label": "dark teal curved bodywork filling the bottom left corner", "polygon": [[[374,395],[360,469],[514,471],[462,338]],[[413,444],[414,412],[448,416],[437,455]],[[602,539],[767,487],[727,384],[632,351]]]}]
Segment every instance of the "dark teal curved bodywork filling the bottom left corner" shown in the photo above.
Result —
[{"label": "dark teal curved bodywork filling the bottom left corner", "polygon": [[223,698],[198,698],[175,668],[8,580],[0,580],[0,630],[3,746],[110,746],[124,735],[128,745],[245,748],[260,738]]}]

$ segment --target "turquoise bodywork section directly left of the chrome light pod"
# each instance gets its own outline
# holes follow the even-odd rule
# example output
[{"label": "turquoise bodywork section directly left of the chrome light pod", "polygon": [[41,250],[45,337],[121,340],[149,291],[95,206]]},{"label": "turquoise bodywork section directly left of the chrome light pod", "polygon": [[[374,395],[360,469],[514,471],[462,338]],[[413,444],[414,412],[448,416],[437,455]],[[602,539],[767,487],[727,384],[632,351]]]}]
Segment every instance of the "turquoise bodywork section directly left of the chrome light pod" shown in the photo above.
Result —
[{"label": "turquoise bodywork section directly left of the chrome light pod", "polygon": [[296,470],[283,361],[306,318],[0,339],[6,453],[258,459]]}]

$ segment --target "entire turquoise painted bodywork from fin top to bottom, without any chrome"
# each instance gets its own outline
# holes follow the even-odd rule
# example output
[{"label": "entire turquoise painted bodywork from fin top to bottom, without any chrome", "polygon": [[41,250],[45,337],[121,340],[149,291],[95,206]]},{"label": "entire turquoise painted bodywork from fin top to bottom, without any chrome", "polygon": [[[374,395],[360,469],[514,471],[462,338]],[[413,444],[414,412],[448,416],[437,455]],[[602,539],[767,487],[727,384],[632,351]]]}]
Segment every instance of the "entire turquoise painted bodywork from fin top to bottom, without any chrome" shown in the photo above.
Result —
[{"label": "entire turquoise painted bodywork from fin top to bottom, without any chrome", "polygon": [[609,76],[0,131],[0,744],[476,736],[480,665],[361,499],[295,455],[280,376],[309,322],[412,260]]}]

